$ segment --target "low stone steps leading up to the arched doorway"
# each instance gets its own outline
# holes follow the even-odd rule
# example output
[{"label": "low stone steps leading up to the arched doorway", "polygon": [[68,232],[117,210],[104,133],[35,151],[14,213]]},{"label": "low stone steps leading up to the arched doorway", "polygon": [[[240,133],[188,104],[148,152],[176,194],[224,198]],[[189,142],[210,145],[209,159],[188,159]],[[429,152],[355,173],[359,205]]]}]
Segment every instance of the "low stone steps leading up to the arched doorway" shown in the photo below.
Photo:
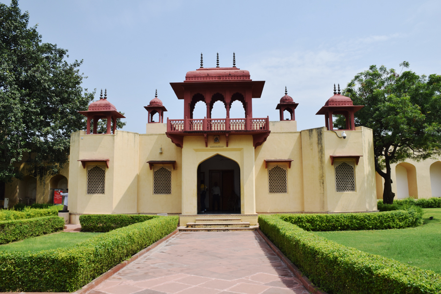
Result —
[{"label": "low stone steps leading up to the arched doorway", "polygon": [[248,221],[234,217],[199,217],[195,222],[187,222],[180,226],[180,232],[224,232],[224,231],[255,231],[258,226],[250,225]]}]

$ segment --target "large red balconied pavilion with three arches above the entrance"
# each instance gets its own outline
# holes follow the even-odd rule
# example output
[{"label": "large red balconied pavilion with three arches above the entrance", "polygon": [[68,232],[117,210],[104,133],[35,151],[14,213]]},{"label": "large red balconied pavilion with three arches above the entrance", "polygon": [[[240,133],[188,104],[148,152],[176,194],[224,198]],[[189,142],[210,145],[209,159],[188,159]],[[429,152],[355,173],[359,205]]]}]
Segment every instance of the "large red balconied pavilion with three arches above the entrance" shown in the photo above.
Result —
[{"label": "large red balconied pavilion with three arches above the entrance", "polygon": [[[233,57],[234,58],[234,57]],[[235,60],[235,58],[233,59]],[[269,118],[253,119],[252,98],[260,98],[265,81],[253,81],[248,71],[236,67],[203,68],[188,72],[185,81],[170,83],[178,99],[184,100],[184,120],[167,119],[167,136],[178,147],[182,147],[184,136],[204,136],[205,147],[208,135],[225,136],[228,147],[229,135],[252,135],[253,146],[260,146],[270,134]],[[243,119],[230,119],[230,108],[234,101],[244,106]],[[204,119],[194,119],[193,112],[197,102],[203,101],[207,107]],[[212,118],[215,102],[221,101],[226,109],[226,118]]]}]

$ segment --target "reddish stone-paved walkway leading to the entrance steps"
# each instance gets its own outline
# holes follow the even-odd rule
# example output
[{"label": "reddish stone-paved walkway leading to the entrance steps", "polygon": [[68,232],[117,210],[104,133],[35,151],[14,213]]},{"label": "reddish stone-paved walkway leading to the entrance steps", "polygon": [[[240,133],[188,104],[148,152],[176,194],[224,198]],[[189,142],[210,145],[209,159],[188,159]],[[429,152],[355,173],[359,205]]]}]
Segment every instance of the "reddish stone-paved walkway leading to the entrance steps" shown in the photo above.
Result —
[{"label": "reddish stone-paved walkway leading to the entrance steps", "polygon": [[180,232],[89,294],[309,294],[255,231]]}]

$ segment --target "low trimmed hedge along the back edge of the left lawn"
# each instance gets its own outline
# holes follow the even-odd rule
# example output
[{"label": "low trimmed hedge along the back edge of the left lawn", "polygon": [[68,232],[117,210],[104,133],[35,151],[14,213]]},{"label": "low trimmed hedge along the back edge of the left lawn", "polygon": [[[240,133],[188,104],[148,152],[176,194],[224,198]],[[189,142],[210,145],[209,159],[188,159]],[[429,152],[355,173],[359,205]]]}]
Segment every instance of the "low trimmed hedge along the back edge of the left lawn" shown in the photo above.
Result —
[{"label": "low trimmed hedge along the back edge of the left lawn", "polygon": [[56,216],[0,221],[0,244],[24,240],[64,229],[64,219]]}]

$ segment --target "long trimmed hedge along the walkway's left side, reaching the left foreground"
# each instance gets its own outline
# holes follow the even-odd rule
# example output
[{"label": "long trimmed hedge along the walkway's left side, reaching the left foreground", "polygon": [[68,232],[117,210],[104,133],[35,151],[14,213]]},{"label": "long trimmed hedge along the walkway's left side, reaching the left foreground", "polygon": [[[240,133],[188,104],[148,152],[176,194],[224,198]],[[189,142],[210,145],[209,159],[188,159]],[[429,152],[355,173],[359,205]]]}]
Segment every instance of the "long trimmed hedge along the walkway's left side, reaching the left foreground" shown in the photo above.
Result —
[{"label": "long trimmed hedge along the walkway's left side, reaching the left foreground", "polygon": [[158,217],[100,234],[69,248],[0,251],[0,291],[74,292],[172,233],[179,218]]}]

